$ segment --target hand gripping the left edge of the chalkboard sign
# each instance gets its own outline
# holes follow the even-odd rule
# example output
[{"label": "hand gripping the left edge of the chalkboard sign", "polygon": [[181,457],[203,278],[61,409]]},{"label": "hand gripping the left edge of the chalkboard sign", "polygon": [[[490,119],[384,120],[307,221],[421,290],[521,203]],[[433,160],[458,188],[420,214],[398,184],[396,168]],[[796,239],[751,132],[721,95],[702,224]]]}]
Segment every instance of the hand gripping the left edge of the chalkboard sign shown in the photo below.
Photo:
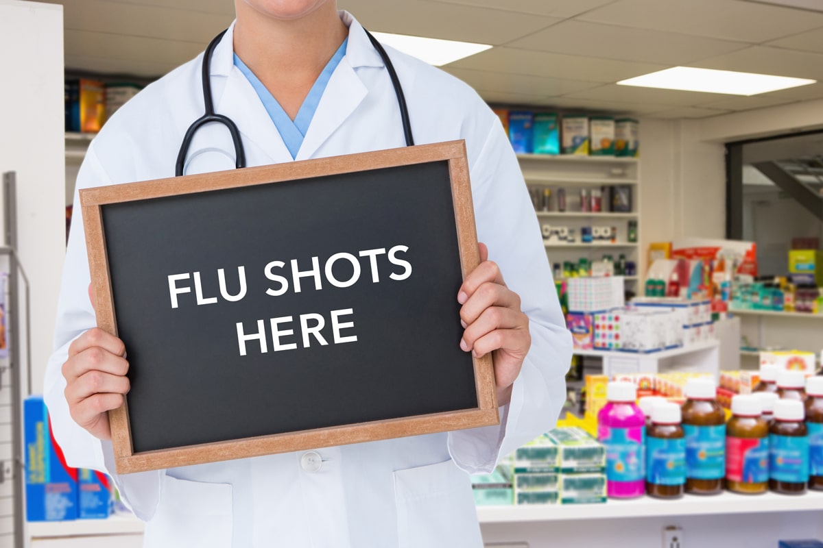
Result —
[{"label": "hand gripping the left edge of the chalkboard sign", "polygon": [[[91,297],[91,287],[89,292]],[[123,341],[95,327],[72,342],[63,363],[72,419],[100,440],[111,440],[108,412],[123,405],[128,394],[125,355]]]}]

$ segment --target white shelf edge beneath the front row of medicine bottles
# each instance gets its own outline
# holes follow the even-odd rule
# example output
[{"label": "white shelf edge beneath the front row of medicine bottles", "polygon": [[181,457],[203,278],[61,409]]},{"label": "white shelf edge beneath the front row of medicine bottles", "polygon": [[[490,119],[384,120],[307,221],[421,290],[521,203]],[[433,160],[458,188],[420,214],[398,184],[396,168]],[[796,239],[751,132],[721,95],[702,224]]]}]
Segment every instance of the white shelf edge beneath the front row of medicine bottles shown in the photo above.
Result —
[{"label": "white shelf edge beneath the front row of medicine bottles", "polygon": [[806,495],[737,495],[724,492],[716,496],[685,495],[678,500],[641,497],[633,500],[609,500],[605,504],[479,506],[477,518],[480,523],[522,523],[807,511],[823,513],[823,492],[810,491]]}]

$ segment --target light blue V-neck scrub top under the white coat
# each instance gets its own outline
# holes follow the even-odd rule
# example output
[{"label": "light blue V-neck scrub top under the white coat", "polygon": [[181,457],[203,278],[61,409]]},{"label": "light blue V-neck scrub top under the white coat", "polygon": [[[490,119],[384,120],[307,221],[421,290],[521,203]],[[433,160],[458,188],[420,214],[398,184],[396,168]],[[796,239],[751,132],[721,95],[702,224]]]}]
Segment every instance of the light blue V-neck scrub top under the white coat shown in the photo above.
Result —
[{"label": "light blue V-neck scrub top under the white coat", "polygon": [[309,124],[314,117],[317,106],[320,104],[320,98],[323,97],[323,91],[326,90],[326,85],[328,85],[328,81],[332,77],[332,72],[337,68],[343,56],[346,55],[346,44],[348,41],[348,38],[343,40],[340,48],[337,48],[337,52],[329,59],[326,67],[323,68],[323,72],[321,72],[317,80],[314,81],[314,85],[312,85],[311,90],[309,90],[309,94],[306,95],[306,98],[303,99],[303,104],[300,105],[300,110],[297,116],[295,116],[294,122],[291,121],[286,111],[277,103],[277,99],[266,89],[263,82],[261,82],[257,76],[254,76],[254,73],[249,67],[246,67],[246,64],[237,57],[237,53],[235,53],[235,67],[243,72],[254,90],[257,91],[258,97],[263,102],[263,106],[266,107],[269,117],[272,118],[272,122],[274,122],[275,127],[277,127],[277,131],[280,132],[283,142],[286,143],[286,148],[291,153],[291,159],[295,159],[298,150],[300,150],[300,145],[303,144],[303,138],[306,135],[306,131],[309,131]]}]

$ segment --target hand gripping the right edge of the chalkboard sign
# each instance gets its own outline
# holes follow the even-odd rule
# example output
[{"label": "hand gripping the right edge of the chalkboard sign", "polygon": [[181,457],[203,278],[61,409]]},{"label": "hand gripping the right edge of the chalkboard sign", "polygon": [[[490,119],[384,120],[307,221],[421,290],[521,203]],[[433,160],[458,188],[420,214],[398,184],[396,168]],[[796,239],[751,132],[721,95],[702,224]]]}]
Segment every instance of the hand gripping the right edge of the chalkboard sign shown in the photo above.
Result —
[{"label": "hand gripping the right edge of the chalkboard sign", "polygon": [[500,268],[489,259],[486,244],[477,244],[480,265],[472,270],[458,292],[463,339],[460,348],[482,357],[492,352],[495,362],[497,404],[511,399],[514,380],[532,346],[528,316],[520,310],[520,296],[506,287]]}]

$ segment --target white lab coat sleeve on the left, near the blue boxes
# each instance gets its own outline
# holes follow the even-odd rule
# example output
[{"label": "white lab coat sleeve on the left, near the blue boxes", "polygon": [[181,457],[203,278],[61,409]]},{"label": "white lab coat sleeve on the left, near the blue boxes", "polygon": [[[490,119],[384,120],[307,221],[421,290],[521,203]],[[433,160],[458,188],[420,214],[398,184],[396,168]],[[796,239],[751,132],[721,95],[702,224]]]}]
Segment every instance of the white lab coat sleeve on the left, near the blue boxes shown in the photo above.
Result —
[{"label": "white lab coat sleeve on the left, near the blue boxes", "polygon": [[[77,175],[77,189],[109,184],[110,177],[100,165],[94,143],[86,153],[86,159]],[[118,477],[114,472],[114,452],[111,442],[101,441],[77,425],[68,411],[65,394],[66,380],[63,363],[68,357],[72,341],[86,330],[95,327],[95,311],[88,295],[90,283],[89,264],[86,257],[86,237],[83,230],[79,193],[74,193],[72,228],[69,231],[63,280],[58,300],[58,313],[54,329],[54,352],[46,366],[43,398],[49,408],[54,439],[63,449],[69,466],[91,468],[105,472],[114,478],[115,484],[137,517],[151,517],[156,505],[156,490],[160,486],[160,472],[142,472]]]}]

